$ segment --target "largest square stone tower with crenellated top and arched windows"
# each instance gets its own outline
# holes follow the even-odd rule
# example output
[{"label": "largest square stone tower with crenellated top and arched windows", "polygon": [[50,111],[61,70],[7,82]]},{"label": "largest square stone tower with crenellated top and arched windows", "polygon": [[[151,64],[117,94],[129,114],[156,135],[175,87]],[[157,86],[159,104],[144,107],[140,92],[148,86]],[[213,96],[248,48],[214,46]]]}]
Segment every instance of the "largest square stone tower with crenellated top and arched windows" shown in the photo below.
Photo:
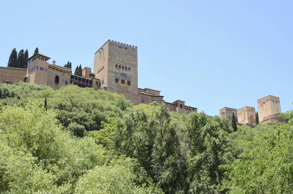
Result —
[{"label": "largest square stone tower with crenellated top and arched windows", "polygon": [[96,53],[94,74],[101,89],[123,94],[138,104],[137,46],[108,40]]}]

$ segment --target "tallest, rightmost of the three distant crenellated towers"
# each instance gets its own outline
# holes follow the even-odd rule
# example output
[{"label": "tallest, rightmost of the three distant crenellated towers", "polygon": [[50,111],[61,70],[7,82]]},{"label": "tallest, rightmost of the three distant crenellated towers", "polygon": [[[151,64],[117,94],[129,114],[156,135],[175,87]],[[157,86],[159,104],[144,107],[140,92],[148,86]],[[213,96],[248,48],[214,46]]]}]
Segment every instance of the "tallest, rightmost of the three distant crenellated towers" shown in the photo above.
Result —
[{"label": "tallest, rightmost of the three distant crenellated towers", "polygon": [[266,96],[257,100],[259,123],[272,123],[279,120],[281,113],[280,98],[276,96]]}]

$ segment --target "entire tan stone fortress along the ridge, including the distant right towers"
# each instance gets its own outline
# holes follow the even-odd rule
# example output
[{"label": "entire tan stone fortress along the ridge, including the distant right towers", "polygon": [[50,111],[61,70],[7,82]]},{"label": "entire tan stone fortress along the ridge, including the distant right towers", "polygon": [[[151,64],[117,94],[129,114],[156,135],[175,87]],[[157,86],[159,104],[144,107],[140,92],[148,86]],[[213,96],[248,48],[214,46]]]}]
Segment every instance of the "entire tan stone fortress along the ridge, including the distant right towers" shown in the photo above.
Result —
[{"label": "entire tan stone fortress along the ridge, including the distant right towers", "polygon": [[[17,84],[22,81],[47,85],[54,89],[73,84],[123,94],[134,105],[156,101],[166,104],[170,111],[186,114],[197,112],[197,108],[185,105],[182,100],[165,102],[159,90],[138,88],[137,46],[108,40],[94,55],[93,72],[91,68],[84,67],[82,77],[73,75],[70,68],[56,65],[55,61],[49,64],[49,59],[50,57],[37,53],[27,59],[27,69],[0,66],[0,83]],[[278,117],[281,113],[279,97],[269,95],[258,99],[257,103],[259,123],[283,121]],[[225,107],[219,113],[221,118],[228,119],[229,124],[234,113],[237,124],[255,125],[253,107]]]}]

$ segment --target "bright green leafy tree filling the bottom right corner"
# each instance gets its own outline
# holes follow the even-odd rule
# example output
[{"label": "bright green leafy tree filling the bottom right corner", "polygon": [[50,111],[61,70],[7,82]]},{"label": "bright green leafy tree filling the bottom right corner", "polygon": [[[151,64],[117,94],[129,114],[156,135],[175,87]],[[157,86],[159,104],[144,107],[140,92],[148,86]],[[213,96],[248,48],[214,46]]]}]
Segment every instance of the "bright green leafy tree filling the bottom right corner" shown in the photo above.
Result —
[{"label": "bright green leafy tree filling the bottom right corner", "polygon": [[273,125],[245,144],[238,159],[222,167],[227,171],[222,190],[227,194],[291,194],[292,127],[290,123]]}]

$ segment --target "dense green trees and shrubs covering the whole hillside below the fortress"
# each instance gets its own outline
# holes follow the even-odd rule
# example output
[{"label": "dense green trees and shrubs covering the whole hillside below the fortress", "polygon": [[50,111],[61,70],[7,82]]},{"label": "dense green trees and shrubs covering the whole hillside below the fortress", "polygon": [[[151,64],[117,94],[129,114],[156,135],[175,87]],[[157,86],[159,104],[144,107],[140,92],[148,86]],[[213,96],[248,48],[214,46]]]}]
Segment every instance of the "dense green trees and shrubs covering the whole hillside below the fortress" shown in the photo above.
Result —
[{"label": "dense green trees and shrubs covering the whole hillside below the fortress", "polygon": [[293,111],[282,116],[233,132],[103,90],[0,84],[0,193],[292,193]]}]

